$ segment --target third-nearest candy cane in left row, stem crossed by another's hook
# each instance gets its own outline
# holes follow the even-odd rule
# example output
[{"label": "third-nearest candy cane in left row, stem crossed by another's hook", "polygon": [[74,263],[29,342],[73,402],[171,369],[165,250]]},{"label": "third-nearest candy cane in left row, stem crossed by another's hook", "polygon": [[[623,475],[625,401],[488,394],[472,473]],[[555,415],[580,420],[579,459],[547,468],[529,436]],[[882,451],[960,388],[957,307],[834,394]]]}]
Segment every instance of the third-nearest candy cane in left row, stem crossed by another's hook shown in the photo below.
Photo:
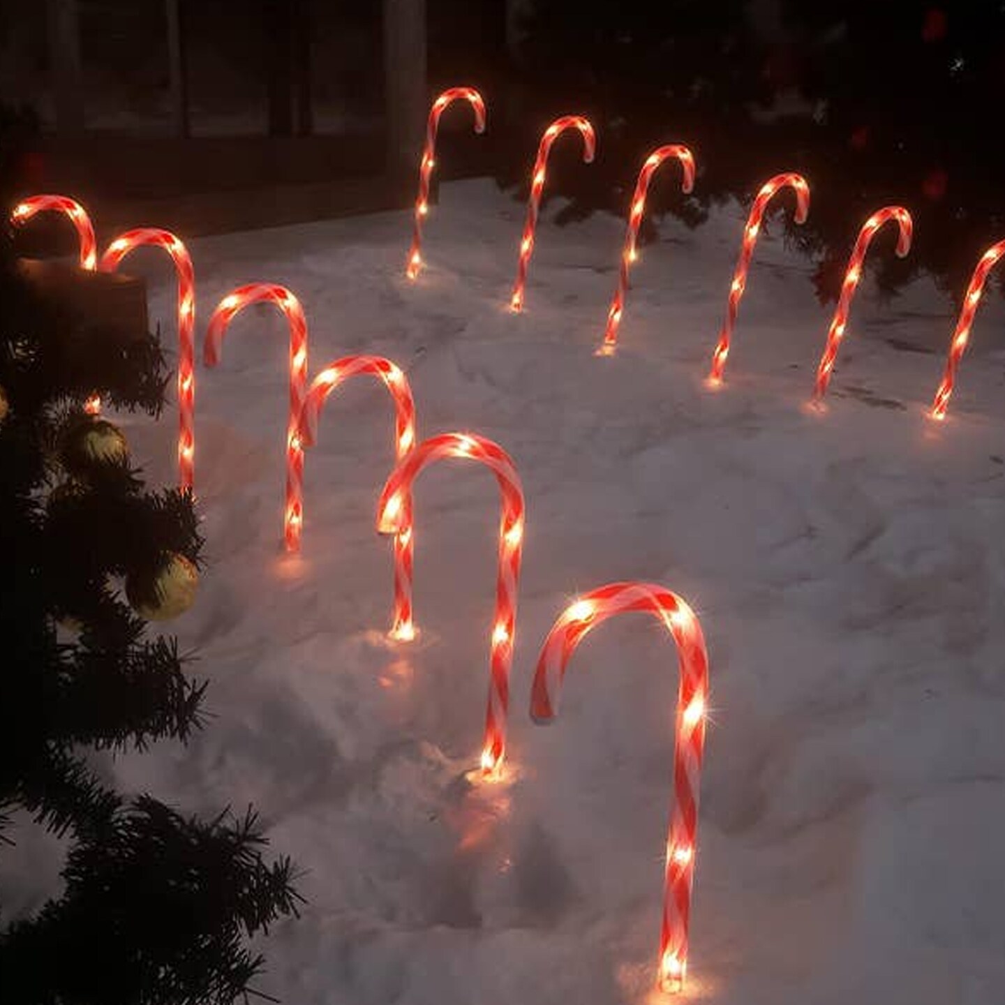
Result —
[{"label": "third-nearest candy cane in left row, stem crossed by another's hook", "polygon": [[[379,377],[394,399],[396,459],[401,459],[415,445],[415,402],[408,378],[390,360],[382,356],[346,356],[330,363],[311,384],[300,412],[300,441],[314,446],[318,441],[318,422],[328,396],[352,377]],[[409,641],[415,637],[412,624],[412,497],[402,502],[401,530],[394,539],[394,617],[391,637]]]}]

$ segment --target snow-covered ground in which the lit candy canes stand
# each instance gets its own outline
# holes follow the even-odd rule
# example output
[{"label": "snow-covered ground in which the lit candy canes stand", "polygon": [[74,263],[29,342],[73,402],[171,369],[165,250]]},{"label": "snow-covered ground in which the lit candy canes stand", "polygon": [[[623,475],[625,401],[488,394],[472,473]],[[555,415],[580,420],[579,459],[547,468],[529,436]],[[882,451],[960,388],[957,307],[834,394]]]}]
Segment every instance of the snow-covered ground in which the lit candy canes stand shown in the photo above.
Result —
[{"label": "snow-covered ground in which the lit candy canes stand", "polygon": [[[699,182],[700,184],[700,182]],[[780,201],[787,201],[783,196]],[[488,681],[497,488],[436,465],[416,490],[420,638],[393,644],[386,391],[336,392],[308,453],[299,558],[278,547],[286,338],[246,311],[200,367],[196,483],[208,568],[174,625],[210,680],[187,748],[120,758],[121,784],[205,813],[253,802],[306,870],[265,943],[287,1005],[654,1000],[676,655],[619,618],[574,657],[562,712],[528,716],[540,645],[577,592],[653,580],[711,658],[686,997],[717,1005],[1005,1001],[1005,311],[978,316],[947,422],[925,416],[953,327],[928,282],[866,277],[828,407],[805,407],[831,308],[769,226],[718,392],[703,384],[744,212],[642,248],[613,359],[593,355],[621,221],[543,215],[527,310],[506,310],[524,207],[444,186],[428,268],[405,213],[192,241],[200,331],[217,299],[287,284],[311,372],[395,360],[420,438],[497,440],[528,517],[510,758],[471,787]],[[788,209],[786,209],[788,211]],[[137,221],[156,224],[156,220]],[[183,235],[184,236],[184,235]],[[889,254],[877,238],[873,255]],[[173,338],[156,251],[152,318]],[[171,481],[172,411],[124,428]]]}]

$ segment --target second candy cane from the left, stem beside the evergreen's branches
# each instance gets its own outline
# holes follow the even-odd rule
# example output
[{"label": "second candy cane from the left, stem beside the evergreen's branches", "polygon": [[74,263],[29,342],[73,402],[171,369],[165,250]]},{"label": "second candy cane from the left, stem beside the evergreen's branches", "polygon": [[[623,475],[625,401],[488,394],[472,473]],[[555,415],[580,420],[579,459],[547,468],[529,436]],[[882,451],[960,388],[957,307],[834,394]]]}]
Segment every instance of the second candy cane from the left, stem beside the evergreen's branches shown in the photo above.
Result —
[{"label": "second candy cane from the left, stem beside the evergreen's branches", "polygon": [[195,273],[185,245],[168,230],[140,227],[117,237],[102,256],[102,271],[114,272],[138,247],[163,248],[178,276],[178,483],[192,488],[195,479]]}]

